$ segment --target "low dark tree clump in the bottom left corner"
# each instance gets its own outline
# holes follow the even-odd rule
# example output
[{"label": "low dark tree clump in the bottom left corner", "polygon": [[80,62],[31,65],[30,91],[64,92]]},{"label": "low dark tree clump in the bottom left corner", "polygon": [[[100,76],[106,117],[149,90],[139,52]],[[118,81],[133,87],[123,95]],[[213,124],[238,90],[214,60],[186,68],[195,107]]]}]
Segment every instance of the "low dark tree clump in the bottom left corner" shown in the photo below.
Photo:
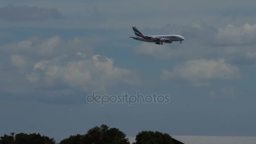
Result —
[{"label": "low dark tree clump in the bottom left corner", "polygon": [[39,133],[25,134],[19,133],[14,136],[4,135],[0,137],[0,144],[56,144],[54,139],[41,136]]}]

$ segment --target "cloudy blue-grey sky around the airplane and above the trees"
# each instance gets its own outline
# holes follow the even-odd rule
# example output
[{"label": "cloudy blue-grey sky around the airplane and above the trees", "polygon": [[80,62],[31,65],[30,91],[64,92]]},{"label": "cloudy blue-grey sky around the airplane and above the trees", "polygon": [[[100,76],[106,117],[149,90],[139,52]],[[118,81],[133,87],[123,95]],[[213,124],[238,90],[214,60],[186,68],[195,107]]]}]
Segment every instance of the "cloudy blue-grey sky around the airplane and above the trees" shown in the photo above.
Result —
[{"label": "cloudy blue-grey sky around the airplane and above the trees", "polygon": [[[254,0],[1,0],[0,135],[256,136]],[[182,35],[180,44],[136,41]],[[164,104],[88,103],[97,94]]]}]

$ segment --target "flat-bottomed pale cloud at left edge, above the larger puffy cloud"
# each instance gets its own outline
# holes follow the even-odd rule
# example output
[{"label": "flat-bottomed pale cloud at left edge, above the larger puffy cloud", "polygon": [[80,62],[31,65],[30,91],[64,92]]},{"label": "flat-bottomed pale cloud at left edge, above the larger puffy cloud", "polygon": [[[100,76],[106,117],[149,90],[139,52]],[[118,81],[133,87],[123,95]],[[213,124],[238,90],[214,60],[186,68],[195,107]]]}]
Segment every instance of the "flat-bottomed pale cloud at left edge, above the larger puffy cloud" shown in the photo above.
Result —
[{"label": "flat-bottomed pale cloud at left edge, above the larger puffy cloud", "polygon": [[37,57],[37,59],[52,59],[67,53],[77,53],[77,55],[83,53],[83,57],[91,56],[95,44],[85,38],[78,37],[71,40],[61,39],[59,36],[45,39],[30,37],[27,40],[1,45],[0,49],[7,53],[27,54],[29,57]]}]

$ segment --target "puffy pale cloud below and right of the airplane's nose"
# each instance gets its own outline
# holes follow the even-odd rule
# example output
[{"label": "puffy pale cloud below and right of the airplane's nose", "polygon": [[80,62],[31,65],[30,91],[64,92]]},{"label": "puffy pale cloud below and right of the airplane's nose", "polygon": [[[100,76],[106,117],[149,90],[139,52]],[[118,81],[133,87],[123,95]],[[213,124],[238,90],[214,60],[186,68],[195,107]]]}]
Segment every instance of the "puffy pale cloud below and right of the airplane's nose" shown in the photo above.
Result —
[{"label": "puffy pale cloud below and right of the airplane's nose", "polygon": [[161,75],[162,80],[181,78],[195,86],[208,85],[209,80],[233,80],[238,77],[239,68],[227,64],[224,59],[186,61],[185,64],[174,67],[171,72],[163,69]]}]

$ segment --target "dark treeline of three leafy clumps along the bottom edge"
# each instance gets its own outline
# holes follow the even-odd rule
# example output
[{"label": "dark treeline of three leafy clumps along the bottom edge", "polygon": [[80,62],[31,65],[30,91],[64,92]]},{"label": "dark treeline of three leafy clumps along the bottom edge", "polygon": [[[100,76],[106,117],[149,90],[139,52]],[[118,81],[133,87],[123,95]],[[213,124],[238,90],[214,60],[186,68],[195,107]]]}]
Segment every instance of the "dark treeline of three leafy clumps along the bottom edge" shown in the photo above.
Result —
[{"label": "dark treeline of three leafy clumps along the bottom edge", "polygon": [[[0,137],[0,144],[57,144],[53,138],[41,136],[40,133],[10,133]],[[69,136],[59,144],[130,144],[126,134],[118,128],[109,128],[107,125],[95,126],[85,135]],[[173,139],[167,133],[142,131],[136,135],[133,144],[173,144]],[[175,143],[174,143],[175,144]]]}]

